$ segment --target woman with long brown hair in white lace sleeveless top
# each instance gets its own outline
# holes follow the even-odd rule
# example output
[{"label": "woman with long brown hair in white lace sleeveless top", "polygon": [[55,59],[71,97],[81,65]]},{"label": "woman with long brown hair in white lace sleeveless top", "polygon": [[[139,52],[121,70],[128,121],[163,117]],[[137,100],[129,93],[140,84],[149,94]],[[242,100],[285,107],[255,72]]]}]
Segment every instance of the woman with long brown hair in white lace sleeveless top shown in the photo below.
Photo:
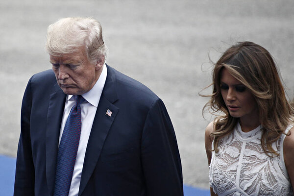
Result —
[{"label": "woman with long brown hair in white lace sleeveless top", "polygon": [[270,53],[232,46],[211,86],[204,107],[222,113],[205,130],[211,196],[293,196],[293,107]]}]

